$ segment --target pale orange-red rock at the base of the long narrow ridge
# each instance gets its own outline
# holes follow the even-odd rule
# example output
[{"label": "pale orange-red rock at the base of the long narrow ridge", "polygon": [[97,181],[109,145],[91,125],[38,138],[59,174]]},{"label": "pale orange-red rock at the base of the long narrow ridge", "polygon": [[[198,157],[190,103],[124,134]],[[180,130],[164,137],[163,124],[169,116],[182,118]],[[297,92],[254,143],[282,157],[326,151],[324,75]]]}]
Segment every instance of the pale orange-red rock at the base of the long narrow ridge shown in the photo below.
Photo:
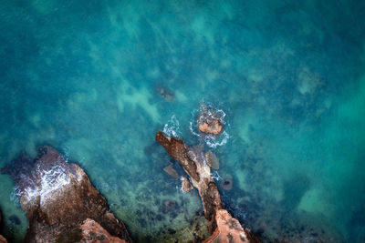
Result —
[{"label": "pale orange-red rock at the base of the long narrow ridge", "polygon": [[242,228],[239,221],[233,218],[225,209],[220,209],[215,214],[217,227],[210,238],[207,238],[203,243],[259,243],[258,238],[250,231]]}]

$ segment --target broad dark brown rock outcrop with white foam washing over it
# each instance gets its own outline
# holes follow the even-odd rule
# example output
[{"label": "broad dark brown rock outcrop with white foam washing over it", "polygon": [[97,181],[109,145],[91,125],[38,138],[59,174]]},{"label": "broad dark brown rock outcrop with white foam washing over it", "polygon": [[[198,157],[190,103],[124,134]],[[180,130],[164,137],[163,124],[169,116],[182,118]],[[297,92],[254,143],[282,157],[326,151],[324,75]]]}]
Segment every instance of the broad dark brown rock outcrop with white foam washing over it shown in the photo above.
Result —
[{"label": "broad dark brown rock outcrop with white foam washing over it", "polygon": [[22,154],[2,173],[16,184],[29,227],[26,242],[74,242],[92,218],[110,236],[131,242],[124,224],[109,212],[107,201],[81,167],[68,163],[52,147],[39,147],[35,159]]}]

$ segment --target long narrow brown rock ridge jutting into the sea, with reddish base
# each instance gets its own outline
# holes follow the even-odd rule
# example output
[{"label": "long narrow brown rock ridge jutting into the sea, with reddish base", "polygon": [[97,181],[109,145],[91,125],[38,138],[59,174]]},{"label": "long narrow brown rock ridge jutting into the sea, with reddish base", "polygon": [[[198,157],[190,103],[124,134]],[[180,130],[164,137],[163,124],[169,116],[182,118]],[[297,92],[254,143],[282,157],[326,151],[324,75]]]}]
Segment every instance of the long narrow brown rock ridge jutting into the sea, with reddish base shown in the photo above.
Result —
[{"label": "long narrow brown rock ridge jutting into the sea, with reddish base", "polygon": [[[191,178],[193,187],[198,189],[199,196],[203,202],[204,217],[208,220],[209,231],[213,236],[215,235],[212,240],[218,240],[208,242],[259,242],[253,234],[241,227],[238,220],[232,218],[223,209],[218,188],[211,177],[210,167],[204,159],[203,147],[189,148],[185,145],[183,139],[166,137],[161,131],[157,132],[155,139],[166,149],[174,160],[179,162],[183,170]],[[228,226],[228,229],[231,231],[227,231],[224,220],[228,220],[230,223],[235,222],[238,229]],[[226,235],[231,234],[233,239],[237,239],[238,241],[220,241],[220,238],[217,237],[223,234],[221,232],[226,233]],[[239,238],[236,238],[236,236],[239,236]],[[222,240],[226,239],[221,238]]]}]

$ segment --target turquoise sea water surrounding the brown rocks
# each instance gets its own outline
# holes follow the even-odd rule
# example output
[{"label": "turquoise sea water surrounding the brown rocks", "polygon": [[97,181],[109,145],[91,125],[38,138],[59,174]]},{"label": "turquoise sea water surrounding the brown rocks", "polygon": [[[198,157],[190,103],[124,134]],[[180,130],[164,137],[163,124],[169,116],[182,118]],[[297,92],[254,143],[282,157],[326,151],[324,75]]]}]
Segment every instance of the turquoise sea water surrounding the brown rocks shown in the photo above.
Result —
[{"label": "turquoise sea water surrounding the brown rocks", "polygon": [[[56,147],[132,238],[154,241],[202,210],[163,172],[154,135],[168,124],[204,143],[190,123],[211,104],[227,133],[211,141],[214,175],[220,188],[232,177],[221,193],[242,224],[266,242],[363,242],[364,13],[364,1],[2,1],[0,166]],[[19,241],[26,217],[0,181]],[[165,199],[178,207],[163,213]]]}]

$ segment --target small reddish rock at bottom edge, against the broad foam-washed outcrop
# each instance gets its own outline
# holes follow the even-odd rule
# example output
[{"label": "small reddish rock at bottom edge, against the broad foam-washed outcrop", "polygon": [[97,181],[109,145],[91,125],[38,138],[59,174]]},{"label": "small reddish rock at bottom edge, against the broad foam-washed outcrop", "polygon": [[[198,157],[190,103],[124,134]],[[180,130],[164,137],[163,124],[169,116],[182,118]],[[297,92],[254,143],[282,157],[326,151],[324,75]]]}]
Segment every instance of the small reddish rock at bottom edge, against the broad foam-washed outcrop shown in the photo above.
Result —
[{"label": "small reddish rock at bottom edge, against the broad foam-washed outcrop", "polygon": [[124,239],[112,237],[110,233],[102,228],[99,223],[88,218],[80,226],[82,239],[78,242],[109,242],[126,243]]}]

